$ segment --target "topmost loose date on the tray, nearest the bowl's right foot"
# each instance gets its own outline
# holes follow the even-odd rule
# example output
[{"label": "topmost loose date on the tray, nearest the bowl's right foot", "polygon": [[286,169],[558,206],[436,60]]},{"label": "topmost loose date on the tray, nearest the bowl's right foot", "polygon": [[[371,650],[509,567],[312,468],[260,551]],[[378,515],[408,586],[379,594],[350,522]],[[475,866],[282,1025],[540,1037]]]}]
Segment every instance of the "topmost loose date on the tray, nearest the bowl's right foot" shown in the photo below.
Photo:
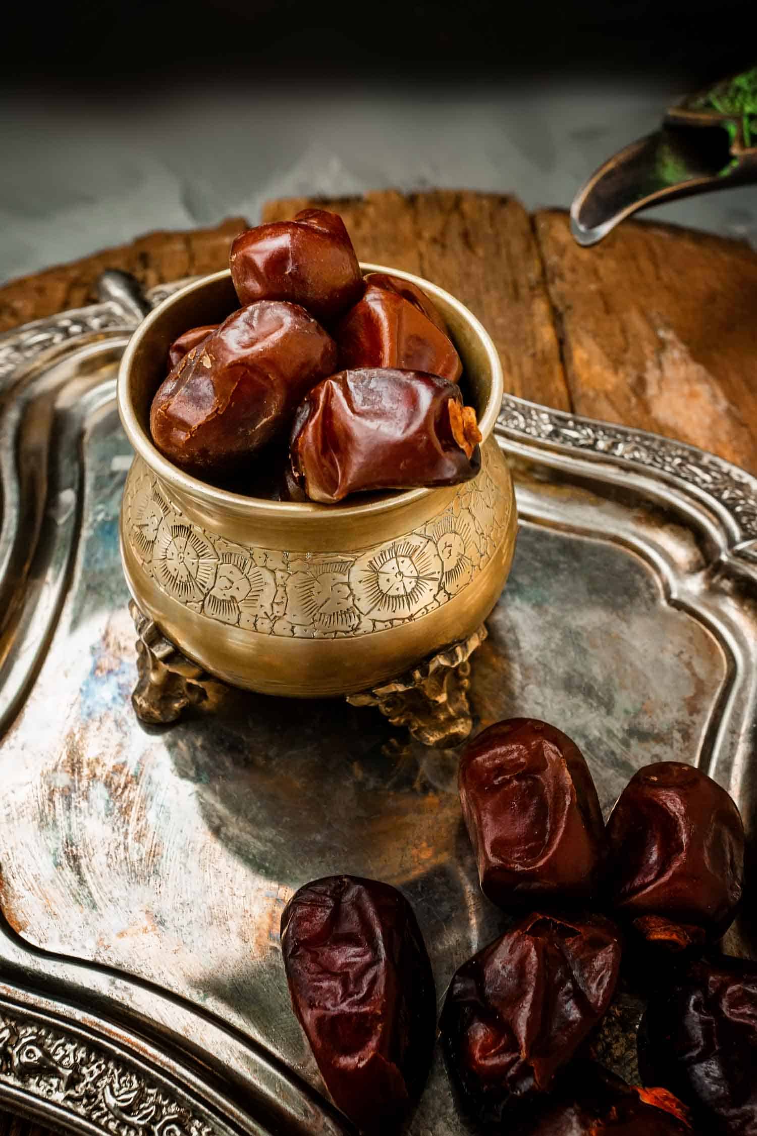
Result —
[{"label": "topmost loose date on the tray, nearest the bowl's right foot", "polygon": [[564,905],[596,892],[605,824],[583,754],[562,730],[536,718],[489,726],[463,753],[460,799],[495,903]]}]

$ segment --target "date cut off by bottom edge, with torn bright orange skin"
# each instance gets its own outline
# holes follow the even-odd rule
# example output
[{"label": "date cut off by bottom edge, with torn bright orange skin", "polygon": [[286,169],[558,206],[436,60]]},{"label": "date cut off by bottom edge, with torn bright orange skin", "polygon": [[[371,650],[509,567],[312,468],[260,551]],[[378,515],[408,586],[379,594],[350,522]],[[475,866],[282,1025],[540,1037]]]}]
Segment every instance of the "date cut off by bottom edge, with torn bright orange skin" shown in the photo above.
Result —
[{"label": "date cut off by bottom edge, with torn bright orange skin", "polygon": [[628,1085],[591,1061],[572,1063],[511,1136],[693,1136],[689,1113],[664,1088]]}]

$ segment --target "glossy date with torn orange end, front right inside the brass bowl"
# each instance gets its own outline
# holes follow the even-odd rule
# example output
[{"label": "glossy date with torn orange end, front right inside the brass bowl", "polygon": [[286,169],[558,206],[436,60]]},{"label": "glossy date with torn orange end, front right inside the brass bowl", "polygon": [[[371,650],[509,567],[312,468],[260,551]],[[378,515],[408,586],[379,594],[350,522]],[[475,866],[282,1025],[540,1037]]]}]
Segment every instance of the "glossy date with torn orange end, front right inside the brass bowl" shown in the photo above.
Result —
[{"label": "glossy date with torn orange end, front right inside the brass bowl", "polygon": [[312,501],[350,493],[456,485],[481,457],[476,414],[436,375],[369,367],[314,386],[289,443],[292,469]]}]

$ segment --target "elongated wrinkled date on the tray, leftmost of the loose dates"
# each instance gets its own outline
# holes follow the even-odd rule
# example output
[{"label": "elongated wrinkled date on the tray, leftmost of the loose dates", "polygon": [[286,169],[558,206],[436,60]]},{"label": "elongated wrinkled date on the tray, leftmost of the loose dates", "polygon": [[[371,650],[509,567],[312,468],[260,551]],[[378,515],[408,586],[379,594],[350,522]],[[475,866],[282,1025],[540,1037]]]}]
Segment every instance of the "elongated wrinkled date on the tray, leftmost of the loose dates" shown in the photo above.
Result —
[{"label": "elongated wrinkled date on the tray, leftmost of the loose dates", "polygon": [[436,994],[412,908],[354,876],[305,884],[281,916],[292,1004],[336,1104],[394,1131],[431,1061]]}]

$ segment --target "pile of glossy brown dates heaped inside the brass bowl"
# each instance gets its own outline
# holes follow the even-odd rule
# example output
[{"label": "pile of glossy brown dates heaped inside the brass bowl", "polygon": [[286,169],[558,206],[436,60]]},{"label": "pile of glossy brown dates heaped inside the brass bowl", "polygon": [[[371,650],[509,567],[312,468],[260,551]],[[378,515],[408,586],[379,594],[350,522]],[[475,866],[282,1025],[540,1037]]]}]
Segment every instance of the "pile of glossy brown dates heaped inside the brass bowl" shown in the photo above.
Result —
[{"label": "pile of glossy brown dates heaped inside the brass bowl", "polygon": [[232,245],[242,307],[169,348],[160,452],[250,496],[343,501],[455,485],[480,467],[476,411],[441,316],[414,284],[363,277],[340,217],[305,209]]}]

